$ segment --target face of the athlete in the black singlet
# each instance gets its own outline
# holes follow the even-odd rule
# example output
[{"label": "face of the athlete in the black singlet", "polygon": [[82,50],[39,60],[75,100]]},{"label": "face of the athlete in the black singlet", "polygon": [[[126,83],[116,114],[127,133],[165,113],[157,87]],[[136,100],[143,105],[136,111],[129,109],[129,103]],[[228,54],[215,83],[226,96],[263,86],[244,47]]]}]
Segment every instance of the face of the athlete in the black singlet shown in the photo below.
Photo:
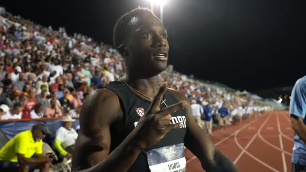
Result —
[{"label": "face of the athlete in the black singlet", "polygon": [[130,69],[156,75],[167,67],[167,31],[156,17],[132,17],[127,40],[127,65]]}]

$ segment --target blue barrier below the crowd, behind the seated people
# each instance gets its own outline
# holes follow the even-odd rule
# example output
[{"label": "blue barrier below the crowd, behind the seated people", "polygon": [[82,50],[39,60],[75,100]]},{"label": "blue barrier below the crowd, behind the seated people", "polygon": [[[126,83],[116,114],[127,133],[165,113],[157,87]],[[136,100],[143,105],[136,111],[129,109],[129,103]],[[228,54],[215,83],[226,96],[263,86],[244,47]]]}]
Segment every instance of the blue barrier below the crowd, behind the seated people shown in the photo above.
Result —
[{"label": "blue barrier below the crowd, behind the seated people", "polygon": [[[72,127],[76,129],[76,126],[79,125],[79,119],[76,119],[72,123]],[[49,130],[52,132],[48,138],[54,138],[57,129],[62,126],[61,118],[39,118],[39,119],[21,119],[21,120],[0,120],[0,129],[3,134],[8,138],[13,138],[16,134],[26,131],[32,128],[32,126],[37,122],[45,123]]]}]

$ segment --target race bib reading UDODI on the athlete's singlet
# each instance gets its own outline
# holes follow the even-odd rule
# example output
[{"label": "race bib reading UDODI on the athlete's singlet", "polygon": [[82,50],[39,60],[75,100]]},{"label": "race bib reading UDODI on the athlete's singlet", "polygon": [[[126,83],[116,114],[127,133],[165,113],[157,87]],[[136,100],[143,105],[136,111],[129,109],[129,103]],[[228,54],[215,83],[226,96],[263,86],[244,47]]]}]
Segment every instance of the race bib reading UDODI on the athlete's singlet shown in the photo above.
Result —
[{"label": "race bib reading UDODI on the athlete's singlet", "polygon": [[147,152],[151,172],[185,172],[184,144],[160,147]]}]

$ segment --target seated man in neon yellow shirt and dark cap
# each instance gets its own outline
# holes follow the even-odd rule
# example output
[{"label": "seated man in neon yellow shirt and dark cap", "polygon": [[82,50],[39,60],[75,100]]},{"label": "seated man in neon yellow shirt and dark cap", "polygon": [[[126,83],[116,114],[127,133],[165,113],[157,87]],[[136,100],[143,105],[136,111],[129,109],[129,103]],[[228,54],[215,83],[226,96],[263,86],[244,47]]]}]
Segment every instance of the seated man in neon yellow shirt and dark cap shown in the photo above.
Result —
[{"label": "seated man in neon yellow shirt and dark cap", "polygon": [[[52,158],[42,154],[42,138],[51,134],[48,127],[38,122],[31,130],[26,130],[10,139],[0,149],[0,172],[49,172]],[[32,156],[35,154],[35,158]]]}]

